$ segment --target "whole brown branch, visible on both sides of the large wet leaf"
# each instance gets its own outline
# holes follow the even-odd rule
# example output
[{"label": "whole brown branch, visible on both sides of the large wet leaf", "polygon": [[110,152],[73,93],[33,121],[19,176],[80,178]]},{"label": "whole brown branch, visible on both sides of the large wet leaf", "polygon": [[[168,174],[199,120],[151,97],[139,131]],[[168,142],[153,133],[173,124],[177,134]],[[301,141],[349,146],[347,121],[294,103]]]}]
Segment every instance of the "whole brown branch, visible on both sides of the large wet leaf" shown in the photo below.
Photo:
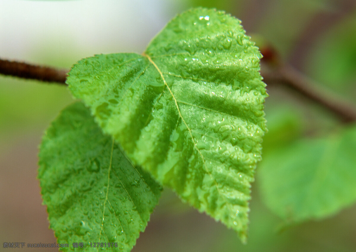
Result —
[{"label": "whole brown branch, visible on both sides of the large wet leaf", "polygon": [[[309,80],[302,73],[299,73],[292,66],[281,64],[277,54],[271,48],[261,48],[264,55],[262,63],[269,65],[269,70],[262,68],[261,75],[268,85],[276,83],[293,89],[303,96],[327,108],[339,117],[342,122],[356,122],[356,110],[344,101],[337,100],[331,95],[324,95],[316,87],[314,82]],[[272,67],[271,67],[272,66]],[[31,65],[22,62],[8,61],[0,59],[0,74],[11,75],[24,79],[34,79],[46,82],[57,82],[66,85],[68,70],[56,69],[46,66]]]}]

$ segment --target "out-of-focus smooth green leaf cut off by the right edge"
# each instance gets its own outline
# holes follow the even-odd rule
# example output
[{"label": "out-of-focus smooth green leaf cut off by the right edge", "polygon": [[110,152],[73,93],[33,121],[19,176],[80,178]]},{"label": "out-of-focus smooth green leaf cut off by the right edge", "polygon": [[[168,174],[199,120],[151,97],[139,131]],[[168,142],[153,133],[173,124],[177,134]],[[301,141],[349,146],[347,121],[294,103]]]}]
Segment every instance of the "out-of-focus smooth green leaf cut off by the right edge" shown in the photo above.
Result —
[{"label": "out-of-focus smooth green leaf cut off by the right edge", "polygon": [[356,127],[304,139],[263,157],[266,205],[286,222],[319,219],[356,201]]}]

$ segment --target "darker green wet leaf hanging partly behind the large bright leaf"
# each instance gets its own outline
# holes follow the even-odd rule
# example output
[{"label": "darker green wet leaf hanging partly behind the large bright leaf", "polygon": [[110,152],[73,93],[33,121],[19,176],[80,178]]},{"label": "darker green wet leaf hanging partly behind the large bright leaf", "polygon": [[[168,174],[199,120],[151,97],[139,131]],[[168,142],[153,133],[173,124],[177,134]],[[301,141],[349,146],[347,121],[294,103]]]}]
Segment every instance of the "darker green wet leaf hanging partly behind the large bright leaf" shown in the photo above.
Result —
[{"label": "darker green wet leaf hanging partly behind the large bright leaf", "polygon": [[[130,251],[161,194],[111,137],[103,135],[80,102],[62,111],[40,147],[38,178],[58,243],[114,242]],[[106,246],[107,247],[107,246]],[[93,248],[94,250],[94,248]]]}]

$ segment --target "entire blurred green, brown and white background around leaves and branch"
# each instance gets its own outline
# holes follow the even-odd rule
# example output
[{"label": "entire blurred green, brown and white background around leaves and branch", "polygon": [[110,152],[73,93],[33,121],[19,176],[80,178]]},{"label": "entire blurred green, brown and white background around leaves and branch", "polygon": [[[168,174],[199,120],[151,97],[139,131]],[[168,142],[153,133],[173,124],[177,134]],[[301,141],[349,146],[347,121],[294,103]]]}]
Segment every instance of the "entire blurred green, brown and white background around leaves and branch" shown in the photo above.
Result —
[{"label": "entire blurred green, brown and white background around leaves and branch", "polygon": [[[193,6],[240,18],[248,35],[271,44],[320,89],[356,106],[355,0],[1,0],[0,57],[69,69],[94,54],[142,53],[172,17]],[[281,86],[267,90],[263,156],[338,127],[317,104]],[[0,251],[3,242],[56,242],[41,204],[37,151],[44,130],[72,102],[65,86],[0,76]],[[260,163],[252,184],[247,245],[165,189],[133,251],[356,250],[355,205],[322,220],[284,225],[263,200],[260,166],[268,165]]]}]

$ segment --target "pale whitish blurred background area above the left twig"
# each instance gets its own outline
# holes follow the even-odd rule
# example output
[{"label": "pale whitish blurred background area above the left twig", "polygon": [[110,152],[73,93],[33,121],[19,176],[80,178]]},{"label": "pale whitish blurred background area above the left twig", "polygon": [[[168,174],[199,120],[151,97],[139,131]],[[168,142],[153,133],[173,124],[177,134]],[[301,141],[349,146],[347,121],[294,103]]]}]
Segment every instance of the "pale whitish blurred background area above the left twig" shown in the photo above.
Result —
[{"label": "pale whitish blurred background area above the left twig", "polygon": [[176,14],[174,1],[163,0],[1,0],[0,55],[44,61],[46,53],[55,62],[141,53]]}]

